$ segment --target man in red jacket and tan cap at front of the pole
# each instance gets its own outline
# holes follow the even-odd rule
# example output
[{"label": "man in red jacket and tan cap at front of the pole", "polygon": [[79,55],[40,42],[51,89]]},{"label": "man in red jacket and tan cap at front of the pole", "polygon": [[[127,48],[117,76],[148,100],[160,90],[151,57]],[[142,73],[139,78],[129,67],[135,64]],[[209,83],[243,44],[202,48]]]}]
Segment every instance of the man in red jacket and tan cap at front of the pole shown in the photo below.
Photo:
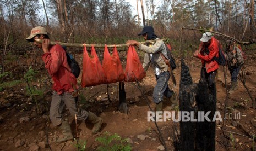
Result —
[{"label": "man in red jacket and tan cap at front of the pole", "polygon": [[[36,43],[36,39],[43,40],[42,44]],[[78,109],[74,99],[74,89],[78,88],[77,78],[71,72],[68,65],[66,51],[61,45],[50,45],[50,38],[44,27],[35,27],[31,30],[30,36],[26,38],[29,42],[34,42],[35,46],[42,48],[42,60],[45,62],[45,68],[53,79],[53,96],[50,107],[50,119],[54,126],[59,126],[64,135],[58,138],[56,142],[72,140],[73,135],[68,120],[62,117],[62,110],[66,105],[73,117],[77,115],[78,120],[89,120],[94,124],[92,133],[100,131],[102,118],[97,117],[90,111]]]}]

